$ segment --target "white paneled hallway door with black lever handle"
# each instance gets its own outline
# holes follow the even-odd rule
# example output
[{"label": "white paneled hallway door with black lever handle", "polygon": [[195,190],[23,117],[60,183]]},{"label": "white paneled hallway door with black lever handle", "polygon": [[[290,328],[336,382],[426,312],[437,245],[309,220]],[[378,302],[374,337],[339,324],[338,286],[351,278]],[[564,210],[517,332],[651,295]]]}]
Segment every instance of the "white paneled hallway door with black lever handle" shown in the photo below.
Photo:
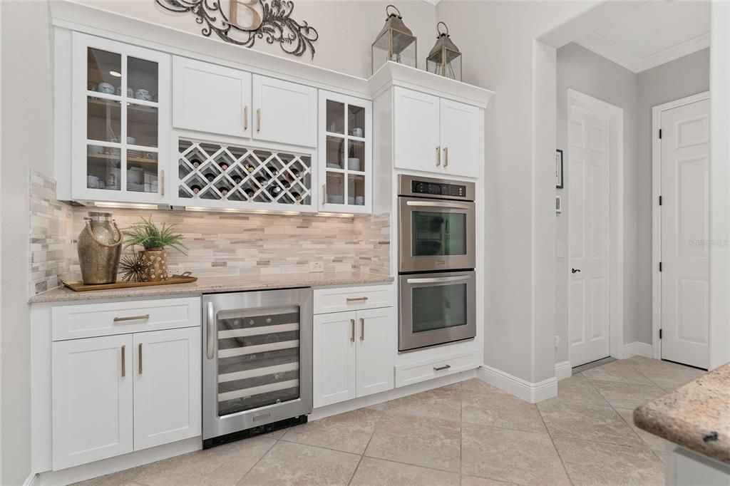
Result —
[{"label": "white paneled hallway door with black lever handle", "polygon": [[569,159],[571,366],[610,355],[610,117],[572,105]]}]

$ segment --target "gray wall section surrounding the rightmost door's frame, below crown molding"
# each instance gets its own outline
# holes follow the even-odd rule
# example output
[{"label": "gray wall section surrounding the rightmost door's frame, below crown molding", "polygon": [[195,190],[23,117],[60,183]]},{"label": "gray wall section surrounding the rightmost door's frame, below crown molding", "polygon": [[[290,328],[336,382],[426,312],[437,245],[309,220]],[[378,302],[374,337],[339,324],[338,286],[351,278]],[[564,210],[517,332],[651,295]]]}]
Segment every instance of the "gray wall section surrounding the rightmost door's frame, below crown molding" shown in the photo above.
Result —
[{"label": "gray wall section surrounding the rightmost door's frame, below crown molding", "polygon": [[651,343],[651,109],[710,89],[710,49],[640,72],[637,77],[637,341]]}]

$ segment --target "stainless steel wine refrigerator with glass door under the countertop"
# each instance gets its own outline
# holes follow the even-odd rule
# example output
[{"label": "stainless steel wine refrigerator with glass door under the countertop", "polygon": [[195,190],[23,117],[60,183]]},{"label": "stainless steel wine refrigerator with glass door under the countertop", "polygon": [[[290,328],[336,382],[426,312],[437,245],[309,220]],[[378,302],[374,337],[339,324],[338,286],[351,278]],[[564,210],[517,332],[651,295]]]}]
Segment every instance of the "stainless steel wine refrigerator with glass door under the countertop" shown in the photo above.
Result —
[{"label": "stainless steel wine refrigerator with glass door under the countertop", "polygon": [[203,447],[307,421],[312,290],[203,298]]}]

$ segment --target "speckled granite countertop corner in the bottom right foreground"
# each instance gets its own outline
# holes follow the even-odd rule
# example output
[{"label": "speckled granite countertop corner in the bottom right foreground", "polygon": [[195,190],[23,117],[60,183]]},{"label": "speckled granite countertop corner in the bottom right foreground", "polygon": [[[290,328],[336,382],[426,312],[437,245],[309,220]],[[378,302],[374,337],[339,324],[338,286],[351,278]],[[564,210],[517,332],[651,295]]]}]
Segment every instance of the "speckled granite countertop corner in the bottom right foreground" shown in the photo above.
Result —
[{"label": "speckled granite countertop corner in the bottom right foreground", "polygon": [[634,410],[647,432],[730,464],[730,363]]}]

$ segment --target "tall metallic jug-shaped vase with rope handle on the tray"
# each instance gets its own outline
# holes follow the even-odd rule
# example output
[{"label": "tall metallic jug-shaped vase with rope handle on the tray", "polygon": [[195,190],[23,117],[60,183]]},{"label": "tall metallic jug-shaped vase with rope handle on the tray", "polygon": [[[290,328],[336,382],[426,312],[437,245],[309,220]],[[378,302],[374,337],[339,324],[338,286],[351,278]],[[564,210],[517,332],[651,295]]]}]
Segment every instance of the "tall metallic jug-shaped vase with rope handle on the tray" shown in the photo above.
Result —
[{"label": "tall metallic jug-shaped vase with rope handle on the tray", "polygon": [[122,232],[110,212],[89,212],[77,239],[81,278],[85,285],[117,281]]}]

